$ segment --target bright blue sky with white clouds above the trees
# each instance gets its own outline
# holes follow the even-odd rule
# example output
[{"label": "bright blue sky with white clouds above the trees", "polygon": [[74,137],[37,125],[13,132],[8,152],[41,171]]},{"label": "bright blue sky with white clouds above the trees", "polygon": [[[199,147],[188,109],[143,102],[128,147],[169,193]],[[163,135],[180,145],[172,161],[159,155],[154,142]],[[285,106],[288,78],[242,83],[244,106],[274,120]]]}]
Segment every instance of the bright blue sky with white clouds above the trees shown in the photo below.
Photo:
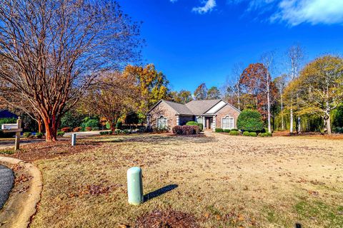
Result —
[{"label": "bright blue sky with white clouds above the trees", "polygon": [[[235,63],[258,62],[276,51],[284,61],[300,43],[306,60],[341,54],[342,0],[119,0],[142,21],[144,63],[154,63],[173,90],[194,91],[200,83],[222,86]],[[287,71],[277,65],[277,73]]]}]

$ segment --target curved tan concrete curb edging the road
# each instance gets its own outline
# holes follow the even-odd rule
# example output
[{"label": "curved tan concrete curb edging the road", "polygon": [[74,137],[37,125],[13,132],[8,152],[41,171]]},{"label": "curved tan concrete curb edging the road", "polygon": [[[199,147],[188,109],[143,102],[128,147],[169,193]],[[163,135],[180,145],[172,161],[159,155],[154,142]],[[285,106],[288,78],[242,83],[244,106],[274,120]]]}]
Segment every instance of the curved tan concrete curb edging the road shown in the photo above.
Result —
[{"label": "curved tan concrete curb edging the road", "polygon": [[23,165],[28,174],[32,177],[28,190],[29,197],[25,202],[21,202],[24,207],[21,207],[20,211],[16,212],[16,218],[11,224],[11,227],[15,228],[28,227],[32,215],[36,213],[36,206],[41,199],[41,190],[43,188],[41,172],[35,165],[12,157],[0,157],[0,163],[1,162],[6,162],[11,165],[20,163],[20,165]]}]

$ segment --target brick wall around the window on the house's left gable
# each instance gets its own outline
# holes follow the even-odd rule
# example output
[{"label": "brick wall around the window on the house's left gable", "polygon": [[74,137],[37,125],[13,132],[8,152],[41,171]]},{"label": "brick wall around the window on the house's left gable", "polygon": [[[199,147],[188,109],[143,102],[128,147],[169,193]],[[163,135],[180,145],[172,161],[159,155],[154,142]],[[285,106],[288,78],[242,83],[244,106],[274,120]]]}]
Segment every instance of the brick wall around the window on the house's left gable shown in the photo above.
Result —
[{"label": "brick wall around the window on the house's left gable", "polygon": [[161,115],[163,115],[164,118],[167,118],[167,125],[169,130],[172,130],[172,128],[177,125],[177,112],[175,112],[172,107],[170,107],[163,101],[159,103],[159,105],[157,105],[153,110],[151,110],[149,114],[149,123],[151,128],[157,127],[157,118],[159,118]]}]

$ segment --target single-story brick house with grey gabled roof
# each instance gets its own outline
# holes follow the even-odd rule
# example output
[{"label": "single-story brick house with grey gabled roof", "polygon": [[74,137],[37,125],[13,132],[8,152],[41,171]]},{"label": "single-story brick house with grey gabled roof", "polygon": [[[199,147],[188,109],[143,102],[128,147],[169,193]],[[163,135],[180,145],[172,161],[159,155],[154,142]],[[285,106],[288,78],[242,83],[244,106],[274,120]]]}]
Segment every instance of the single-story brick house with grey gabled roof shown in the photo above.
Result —
[{"label": "single-story brick house with grey gabled roof", "polygon": [[147,113],[147,123],[151,128],[172,130],[175,125],[185,125],[197,121],[204,129],[237,128],[240,111],[224,100],[192,100],[186,104],[159,100]]}]

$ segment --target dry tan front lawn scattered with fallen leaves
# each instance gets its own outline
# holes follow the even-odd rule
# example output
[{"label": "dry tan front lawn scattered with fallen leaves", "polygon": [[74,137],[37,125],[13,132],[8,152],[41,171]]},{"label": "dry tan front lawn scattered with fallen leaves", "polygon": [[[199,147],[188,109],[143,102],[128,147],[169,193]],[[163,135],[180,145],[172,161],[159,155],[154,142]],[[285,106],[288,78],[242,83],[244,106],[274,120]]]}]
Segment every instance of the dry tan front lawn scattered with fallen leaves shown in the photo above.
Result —
[{"label": "dry tan front lawn scattered with fallen leaves", "polygon": [[[44,190],[31,227],[134,227],[156,209],[189,214],[200,227],[343,227],[343,140],[219,133],[87,140],[96,147],[36,161]],[[132,166],[143,169],[144,194],[162,188],[140,206],[127,203]]]}]

